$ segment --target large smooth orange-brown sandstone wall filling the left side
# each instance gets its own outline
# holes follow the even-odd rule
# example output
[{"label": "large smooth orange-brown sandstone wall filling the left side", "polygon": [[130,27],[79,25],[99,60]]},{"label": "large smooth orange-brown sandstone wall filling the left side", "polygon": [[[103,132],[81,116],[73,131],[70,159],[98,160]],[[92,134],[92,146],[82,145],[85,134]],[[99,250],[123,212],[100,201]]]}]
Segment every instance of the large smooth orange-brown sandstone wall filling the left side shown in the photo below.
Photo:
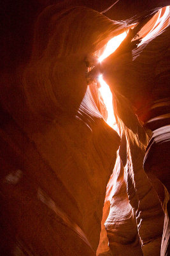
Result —
[{"label": "large smooth orange-brown sandstone wall filling the left side", "polygon": [[[74,25],[81,17],[78,32]],[[93,17],[90,39],[84,28]],[[99,97],[87,86],[85,61],[113,36],[113,28],[109,19],[85,8],[64,15],[52,6],[39,17],[23,90],[16,93],[21,105],[4,106],[15,120],[9,116],[1,127],[1,255],[96,255],[120,137],[97,109]],[[11,100],[17,95],[4,93]]]}]

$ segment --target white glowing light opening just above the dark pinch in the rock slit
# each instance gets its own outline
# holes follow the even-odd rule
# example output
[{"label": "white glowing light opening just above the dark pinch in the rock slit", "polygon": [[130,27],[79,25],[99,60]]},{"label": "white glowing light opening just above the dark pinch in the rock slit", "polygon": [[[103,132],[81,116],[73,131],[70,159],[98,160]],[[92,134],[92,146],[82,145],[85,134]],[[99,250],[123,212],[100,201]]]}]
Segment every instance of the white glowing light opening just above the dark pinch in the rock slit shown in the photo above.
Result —
[{"label": "white glowing light opening just above the dark pinch in the rock slit", "polygon": [[127,36],[127,32],[124,32],[118,36],[115,36],[111,38],[111,40],[106,45],[106,49],[104,50],[103,54],[99,57],[99,61],[103,61],[106,57],[110,56],[111,53],[113,53],[119,45],[122,43],[122,41]]}]

